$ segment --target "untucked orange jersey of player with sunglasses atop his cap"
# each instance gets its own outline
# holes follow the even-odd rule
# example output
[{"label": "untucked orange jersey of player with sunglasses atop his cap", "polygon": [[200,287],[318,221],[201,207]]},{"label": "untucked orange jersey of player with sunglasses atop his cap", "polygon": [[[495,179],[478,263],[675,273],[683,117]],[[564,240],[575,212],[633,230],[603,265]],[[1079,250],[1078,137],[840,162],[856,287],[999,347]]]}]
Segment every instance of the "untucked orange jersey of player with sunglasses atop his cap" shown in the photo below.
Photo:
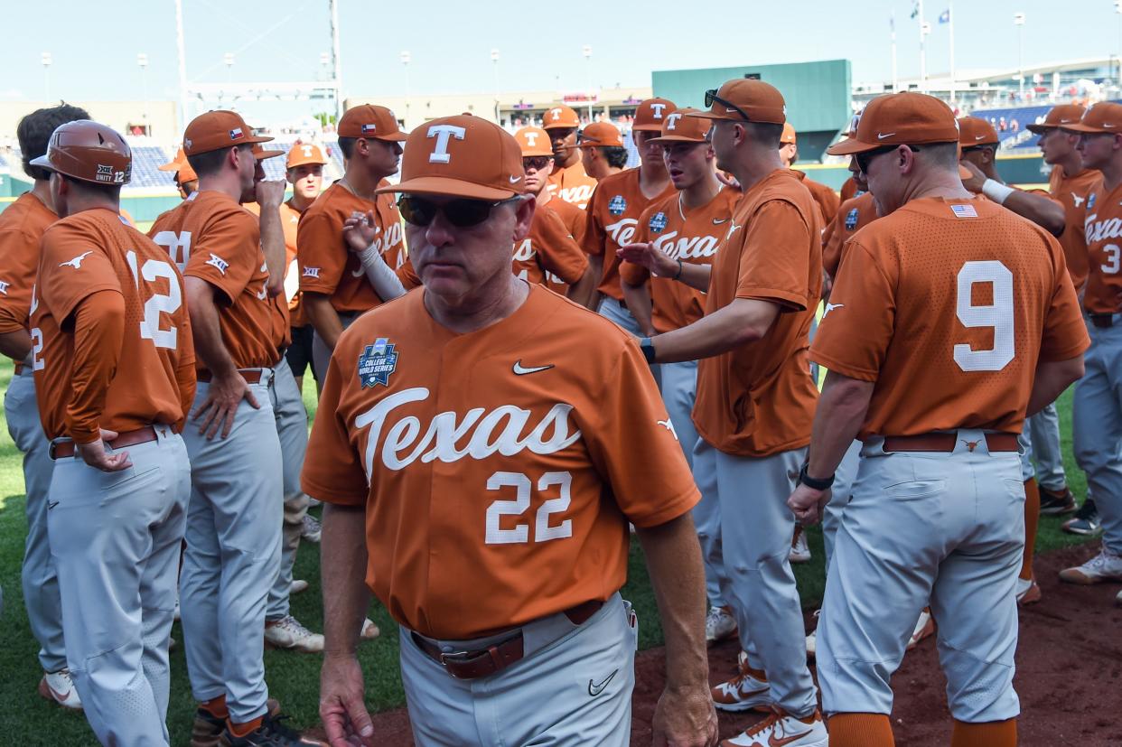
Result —
[{"label": "untucked orange jersey of player with sunglasses atop his cap", "polygon": [[706,313],[756,298],[780,314],[762,339],[698,361],[693,424],[725,453],[769,457],[810,443],[818,389],[807,348],[821,297],[821,233],[810,192],[787,168],[745,191],[728,221]]}]

